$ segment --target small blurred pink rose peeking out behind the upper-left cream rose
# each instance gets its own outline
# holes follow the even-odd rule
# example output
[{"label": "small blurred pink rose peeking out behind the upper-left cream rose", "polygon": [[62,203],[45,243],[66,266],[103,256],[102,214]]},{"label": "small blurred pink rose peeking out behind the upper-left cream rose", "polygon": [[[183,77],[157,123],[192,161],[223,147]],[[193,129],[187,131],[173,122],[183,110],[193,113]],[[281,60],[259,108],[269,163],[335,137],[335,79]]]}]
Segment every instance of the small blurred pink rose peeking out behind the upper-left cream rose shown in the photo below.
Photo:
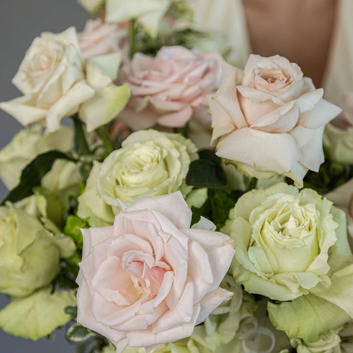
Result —
[{"label": "small blurred pink rose peeking out behind the upper-left cream rose", "polygon": [[128,48],[128,30],[107,24],[101,18],[88,20],[77,37],[84,59],[119,51],[126,53]]}]

